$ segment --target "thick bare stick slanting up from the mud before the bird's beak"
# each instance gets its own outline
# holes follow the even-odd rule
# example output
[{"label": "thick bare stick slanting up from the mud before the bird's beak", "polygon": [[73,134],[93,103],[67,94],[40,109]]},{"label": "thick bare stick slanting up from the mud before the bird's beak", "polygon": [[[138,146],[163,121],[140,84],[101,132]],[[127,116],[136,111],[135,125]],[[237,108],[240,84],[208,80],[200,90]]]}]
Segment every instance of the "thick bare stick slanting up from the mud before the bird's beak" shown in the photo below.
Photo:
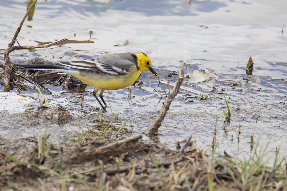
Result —
[{"label": "thick bare stick slanting up from the mud before the bird's beak", "polygon": [[173,98],[177,95],[179,88],[183,82],[183,77],[184,77],[184,70],[183,70],[184,65],[182,65],[179,69],[179,78],[177,79],[177,81],[174,84],[174,88],[172,90],[172,92],[167,96],[167,98],[164,101],[164,104],[162,106],[162,109],[160,111],[160,113],[158,114],[158,116],[154,119],[154,122],[152,122],[152,124],[150,124],[150,126],[148,126],[148,128],[146,128],[146,130],[144,131],[146,134],[155,134],[158,131],[158,128],[161,125],[161,122],[163,121],[167,110],[169,109],[169,106],[173,100]]}]

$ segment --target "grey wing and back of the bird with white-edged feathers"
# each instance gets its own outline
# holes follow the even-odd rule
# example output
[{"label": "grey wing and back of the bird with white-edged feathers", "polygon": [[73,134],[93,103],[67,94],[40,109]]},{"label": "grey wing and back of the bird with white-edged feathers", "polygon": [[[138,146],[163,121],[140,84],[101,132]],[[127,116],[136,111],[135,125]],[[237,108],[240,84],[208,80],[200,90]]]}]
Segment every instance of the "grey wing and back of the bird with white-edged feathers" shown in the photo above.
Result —
[{"label": "grey wing and back of the bird with white-edged feathers", "polygon": [[94,73],[126,75],[132,66],[137,67],[135,58],[130,54],[107,54],[83,61],[60,62],[60,64],[72,69],[86,70]]}]

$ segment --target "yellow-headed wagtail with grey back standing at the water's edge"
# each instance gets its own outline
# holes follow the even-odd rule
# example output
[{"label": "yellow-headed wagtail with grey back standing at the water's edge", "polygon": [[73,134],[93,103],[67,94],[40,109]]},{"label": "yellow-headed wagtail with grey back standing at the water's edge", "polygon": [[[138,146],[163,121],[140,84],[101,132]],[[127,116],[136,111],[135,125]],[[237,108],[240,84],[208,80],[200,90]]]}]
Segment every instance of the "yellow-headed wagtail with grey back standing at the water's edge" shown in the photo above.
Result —
[{"label": "yellow-headed wagtail with grey back standing at the water's edge", "polygon": [[[106,112],[104,90],[123,89],[133,84],[141,75],[141,72],[149,70],[158,75],[152,68],[152,62],[148,55],[143,52],[111,53],[96,56],[80,61],[60,61],[54,65],[15,65],[19,70],[52,70],[59,71],[76,77],[89,86],[94,87],[93,95]],[[98,99],[99,96],[104,106]]]}]

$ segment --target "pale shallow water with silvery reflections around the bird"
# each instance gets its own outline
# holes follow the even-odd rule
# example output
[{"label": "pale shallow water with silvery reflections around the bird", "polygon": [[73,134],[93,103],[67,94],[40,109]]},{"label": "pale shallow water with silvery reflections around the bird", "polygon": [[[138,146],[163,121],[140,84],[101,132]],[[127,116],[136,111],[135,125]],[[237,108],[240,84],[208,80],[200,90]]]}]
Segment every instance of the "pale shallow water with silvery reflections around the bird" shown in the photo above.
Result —
[{"label": "pale shallow water with silvery reflections around the bird", "polygon": [[[27,1],[0,1],[1,62],[26,7]],[[184,0],[39,0],[33,19],[24,22],[19,43],[35,45],[75,33],[76,37],[71,38],[74,41],[50,48],[15,51],[10,56],[18,64],[34,58],[56,63],[107,52],[145,52],[162,83],[158,85],[156,77],[149,79],[151,74],[146,71],[138,79],[144,82],[141,88],[131,87],[130,98],[127,88],[105,94],[116,115],[140,116],[142,120],[128,120],[137,133],[146,128],[146,122],[152,121],[164,102],[154,89],[165,95],[163,87],[167,90],[167,81],[175,82],[184,60],[185,76],[191,78],[185,78],[162,123],[161,143],[174,148],[176,141],[193,135],[195,147],[206,149],[212,143],[218,116],[218,153],[226,150],[230,155],[249,155],[254,131],[255,142],[260,139],[259,145],[263,147],[269,143],[270,155],[280,145],[282,155],[287,155],[287,64],[284,63],[287,42],[285,32],[281,32],[287,18],[286,7],[284,0],[193,0],[190,5]],[[125,41],[128,46],[122,46]],[[244,69],[250,56],[254,62],[253,75],[247,75]],[[204,81],[206,76],[197,70],[209,73],[210,78]],[[168,77],[169,73],[175,74]],[[65,93],[61,87],[51,85],[45,87],[53,92],[52,96],[45,95],[48,100],[67,98],[71,105],[79,107],[79,99],[71,95],[85,95],[84,107],[95,106],[89,92],[92,87],[86,87],[87,92],[81,94]],[[216,91],[212,91],[213,87]],[[13,92],[18,93],[17,89]],[[32,90],[21,94],[38,98]],[[207,94],[208,99],[200,100],[202,94]],[[229,123],[222,112],[227,111],[224,96],[230,101]],[[238,103],[239,110],[236,110]],[[5,135],[5,131],[1,133]]]}]

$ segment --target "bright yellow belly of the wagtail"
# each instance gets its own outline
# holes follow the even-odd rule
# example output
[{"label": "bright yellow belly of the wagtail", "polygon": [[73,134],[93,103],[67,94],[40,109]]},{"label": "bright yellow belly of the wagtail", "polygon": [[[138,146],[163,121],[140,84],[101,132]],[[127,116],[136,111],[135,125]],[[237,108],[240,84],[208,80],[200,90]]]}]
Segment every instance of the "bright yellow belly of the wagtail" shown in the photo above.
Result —
[{"label": "bright yellow belly of the wagtail", "polygon": [[80,75],[73,75],[82,82],[94,87],[95,89],[103,90],[115,90],[123,89],[133,84],[135,80],[139,77],[140,71],[132,72],[127,75],[121,76],[110,76],[94,73],[85,73]]}]

